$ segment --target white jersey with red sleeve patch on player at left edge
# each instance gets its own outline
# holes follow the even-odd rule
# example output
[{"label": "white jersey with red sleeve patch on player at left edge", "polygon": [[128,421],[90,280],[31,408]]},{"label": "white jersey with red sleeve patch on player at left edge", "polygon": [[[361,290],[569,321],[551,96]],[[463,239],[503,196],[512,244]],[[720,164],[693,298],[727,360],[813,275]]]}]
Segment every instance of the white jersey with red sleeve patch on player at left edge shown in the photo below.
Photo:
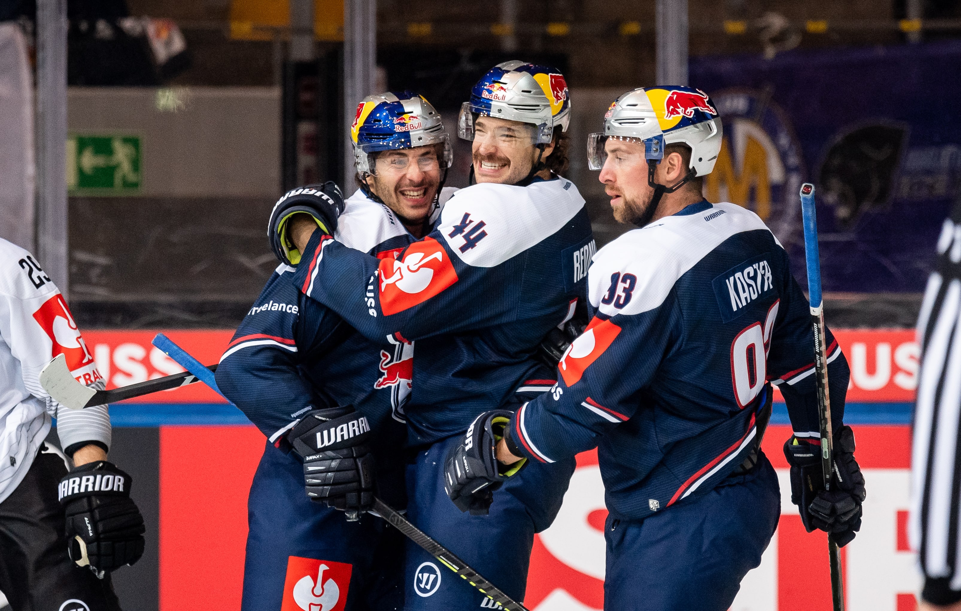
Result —
[{"label": "white jersey with red sleeve patch on player at left edge", "polygon": [[103,388],[60,290],[36,258],[0,239],[0,502],[26,476],[51,418],[58,419],[64,450],[89,442],[110,446],[105,405],[66,409],[40,387],[40,370],[58,354],[76,379]]}]

